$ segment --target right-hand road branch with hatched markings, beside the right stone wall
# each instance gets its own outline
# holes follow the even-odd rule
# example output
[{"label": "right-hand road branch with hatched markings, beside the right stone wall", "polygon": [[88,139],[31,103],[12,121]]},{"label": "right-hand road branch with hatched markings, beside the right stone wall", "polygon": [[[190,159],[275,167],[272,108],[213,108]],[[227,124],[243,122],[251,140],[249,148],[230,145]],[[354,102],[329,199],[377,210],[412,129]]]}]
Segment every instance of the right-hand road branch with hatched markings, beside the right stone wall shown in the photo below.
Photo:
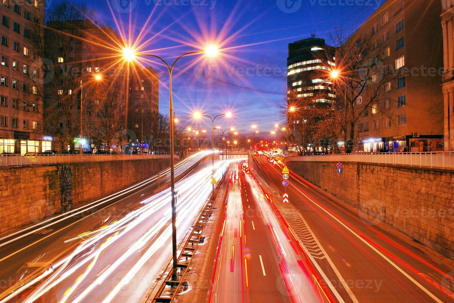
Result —
[{"label": "right-hand road branch with hatched markings, beside the right stone wall", "polygon": [[[282,194],[283,165],[271,164],[264,156],[255,159],[266,183]],[[454,302],[449,290],[453,280],[446,275],[454,269],[448,259],[434,258],[401,240],[399,232],[375,225],[373,218],[359,216],[295,173],[290,175],[287,193],[297,212],[286,219],[337,301]]]}]

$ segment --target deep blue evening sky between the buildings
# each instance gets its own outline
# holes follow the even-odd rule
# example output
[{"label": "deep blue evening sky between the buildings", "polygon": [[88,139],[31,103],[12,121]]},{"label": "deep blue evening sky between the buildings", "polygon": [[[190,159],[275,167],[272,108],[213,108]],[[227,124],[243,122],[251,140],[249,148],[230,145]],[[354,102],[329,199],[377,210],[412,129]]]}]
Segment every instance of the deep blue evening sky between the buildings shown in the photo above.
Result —
[{"label": "deep blue evening sky between the buildings", "polygon": [[[57,1],[47,0],[50,7]],[[158,54],[169,64],[184,52],[222,43],[220,57],[196,55],[178,61],[173,76],[175,115],[184,126],[209,129],[195,122],[191,112],[232,111],[231,120],[216,125],[236,126],[247,134],[252,124],[264,133],[281,120],[276,103],[286,98],[288,43],[314,33],[330,44],[327,32],[341,25],[357,28],[384,0],[73,1],[86,3],[99,23],[110,24],[125,40],[135,41],[140,35],[139,44],[145,44],[138,50]],[[166,68],[158,61],[141,63],[159,73],[159,111],[168,114]]]}]

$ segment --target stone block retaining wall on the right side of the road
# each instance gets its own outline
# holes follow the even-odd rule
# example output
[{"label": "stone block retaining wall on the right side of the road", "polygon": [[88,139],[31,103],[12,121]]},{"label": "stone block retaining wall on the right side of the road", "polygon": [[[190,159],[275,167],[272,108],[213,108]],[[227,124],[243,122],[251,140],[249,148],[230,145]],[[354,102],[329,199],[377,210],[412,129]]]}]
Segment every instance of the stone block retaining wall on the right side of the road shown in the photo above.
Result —
[{"label": "stone block retaining wall on the right side of the road", "polygon": [[454,260],[454,172],[376,164],[287,161],[311,183]]}]

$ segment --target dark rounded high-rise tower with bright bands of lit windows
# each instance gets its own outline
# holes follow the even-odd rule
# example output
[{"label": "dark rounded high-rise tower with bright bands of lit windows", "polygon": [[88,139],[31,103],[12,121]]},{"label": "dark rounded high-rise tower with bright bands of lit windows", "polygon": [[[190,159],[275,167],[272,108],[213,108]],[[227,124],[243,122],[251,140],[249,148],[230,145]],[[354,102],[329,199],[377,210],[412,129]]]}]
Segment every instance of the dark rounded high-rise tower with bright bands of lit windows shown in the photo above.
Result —
[{"label": "dark rounded high-rise tower with bright bands of lit windows", "polygon": [[311,38],[288,44],[287,101],[291,97],[314,97],[318,103],[330,103],[335,99],[330,71],[336,67],[336,48],[327,45],[325,39]]}]

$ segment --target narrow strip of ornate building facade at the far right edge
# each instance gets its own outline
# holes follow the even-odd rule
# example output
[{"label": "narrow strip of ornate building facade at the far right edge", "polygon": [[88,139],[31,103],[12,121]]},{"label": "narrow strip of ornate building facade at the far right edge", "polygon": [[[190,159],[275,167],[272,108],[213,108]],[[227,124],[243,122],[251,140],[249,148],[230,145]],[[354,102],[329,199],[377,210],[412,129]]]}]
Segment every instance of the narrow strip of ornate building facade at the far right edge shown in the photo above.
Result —
[{"label": "narrow strip of ornate building facade at the far right edge", "polygon": [[442,0],[444,149],[454,150],[454,1]]}]

